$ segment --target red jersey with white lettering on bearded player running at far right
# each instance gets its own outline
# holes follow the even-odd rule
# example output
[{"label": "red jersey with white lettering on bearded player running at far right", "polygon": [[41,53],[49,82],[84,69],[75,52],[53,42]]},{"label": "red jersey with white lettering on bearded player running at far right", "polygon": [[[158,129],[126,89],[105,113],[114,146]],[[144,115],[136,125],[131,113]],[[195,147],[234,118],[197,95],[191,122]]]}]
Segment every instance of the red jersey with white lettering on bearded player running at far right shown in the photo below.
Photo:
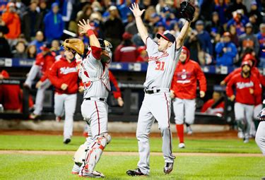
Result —
[{"label": "red jersey with white lettering on bearded player running at far right", "polygon": [[[261,96],[261,85],[259,80],[255,76],[249,76],[249,78],[243,78],[241,73],[233,76],[226,86],[226,94],[228,97],[234,95],[232,87],[235,86],[235,102],[242,104],[255,104],[255,97]],[[254,94],[250,94],[249,89],[254,90]]]}]

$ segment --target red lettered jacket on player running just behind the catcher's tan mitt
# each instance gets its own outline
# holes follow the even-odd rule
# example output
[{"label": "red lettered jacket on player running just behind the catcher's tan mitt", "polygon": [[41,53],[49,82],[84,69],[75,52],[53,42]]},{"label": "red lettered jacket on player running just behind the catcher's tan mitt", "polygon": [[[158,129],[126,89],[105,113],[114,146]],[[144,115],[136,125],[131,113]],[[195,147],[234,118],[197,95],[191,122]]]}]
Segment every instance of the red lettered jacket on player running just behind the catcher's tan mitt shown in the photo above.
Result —
[{"label": "red lettered jacket on player running just behind the catcher's tan mitt", "polygon": [[[49,80],[59,94],[74,94],[78,91],[78,73],[76,61],[69,63],[64,57],[54,62],[49,71]],[[68,85],[66,90],[61,90],[61,85]]]}]

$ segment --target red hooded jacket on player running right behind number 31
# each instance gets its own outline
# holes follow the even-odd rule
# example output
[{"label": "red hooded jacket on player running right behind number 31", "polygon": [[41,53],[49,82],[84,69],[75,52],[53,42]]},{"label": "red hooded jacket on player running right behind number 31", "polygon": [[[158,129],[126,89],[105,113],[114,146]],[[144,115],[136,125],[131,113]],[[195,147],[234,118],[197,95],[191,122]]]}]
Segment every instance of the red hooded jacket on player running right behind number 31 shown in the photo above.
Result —
[{"label": "red hooded jacket on player running right behind number 31", "polygon": [[200,90],[206,92],[206,78],[199,64],[189,59],[189,49],[183,49],[187,51],[187,59],[184,64],[177,63],[170,89],[174,90],[176,97],[192,100],[196,98],[197,80]]}]

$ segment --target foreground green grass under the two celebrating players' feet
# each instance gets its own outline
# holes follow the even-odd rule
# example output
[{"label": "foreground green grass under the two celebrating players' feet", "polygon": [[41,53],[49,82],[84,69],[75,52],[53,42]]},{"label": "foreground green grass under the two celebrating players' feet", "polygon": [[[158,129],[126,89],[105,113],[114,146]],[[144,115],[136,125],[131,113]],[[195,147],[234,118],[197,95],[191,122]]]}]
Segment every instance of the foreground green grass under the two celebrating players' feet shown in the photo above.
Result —
[{"label": "foreground green grass under the two celebrating players' feet", "polygon": [[[163,157],[151,157],[151,176],[126,176],[138,156],[102,155],[96,170],[106,179],[260,179],[265,176],[262,157],[177,157],[171,174],[163,174]],[[70,174],[70,155],[0,155],[0,179],[83,179]]]}]

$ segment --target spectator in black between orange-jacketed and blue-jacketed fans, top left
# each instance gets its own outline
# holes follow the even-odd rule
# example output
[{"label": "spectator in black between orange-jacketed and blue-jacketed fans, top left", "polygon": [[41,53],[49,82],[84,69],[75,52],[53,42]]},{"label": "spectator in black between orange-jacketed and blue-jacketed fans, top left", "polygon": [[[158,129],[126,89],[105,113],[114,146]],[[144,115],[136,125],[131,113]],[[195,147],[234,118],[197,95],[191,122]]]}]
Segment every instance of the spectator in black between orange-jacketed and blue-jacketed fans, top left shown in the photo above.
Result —
[{"label": "spectator in black between orange-jacketed and blue-jacketed fans, top left", "polygon": [[41,30],[42,16],[37,12],[37,0],[31,0],[28,10],[23,13],[21,20],[21,31],[25,39],[30,42],[35,37],[36,32]]}]

